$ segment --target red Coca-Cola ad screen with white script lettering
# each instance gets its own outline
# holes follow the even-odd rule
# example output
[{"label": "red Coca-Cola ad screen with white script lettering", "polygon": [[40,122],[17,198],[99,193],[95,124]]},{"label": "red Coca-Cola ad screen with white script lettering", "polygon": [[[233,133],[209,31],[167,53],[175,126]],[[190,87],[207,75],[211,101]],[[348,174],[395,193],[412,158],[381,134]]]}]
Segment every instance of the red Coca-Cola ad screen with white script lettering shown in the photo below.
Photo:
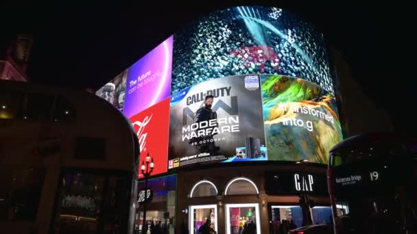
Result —
[{"label": "red Coca-Cola ad screen with white script lettering", "polygon": [[[152,174],[167,172],[169,99],[132,116],[130,121],[139,139],[141,150],[139,164],[146,161],[146,155],[149,153],[154,159]],[[143,174],[140,174],[139,178],[142,177]]]}]

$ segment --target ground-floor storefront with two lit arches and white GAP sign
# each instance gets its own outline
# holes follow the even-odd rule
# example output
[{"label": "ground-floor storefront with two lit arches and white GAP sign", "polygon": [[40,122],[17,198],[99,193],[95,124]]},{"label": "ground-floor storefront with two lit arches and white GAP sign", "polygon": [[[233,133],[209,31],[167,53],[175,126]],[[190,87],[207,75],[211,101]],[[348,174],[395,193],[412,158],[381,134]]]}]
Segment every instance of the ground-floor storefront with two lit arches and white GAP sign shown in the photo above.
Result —
[{"label": "ground-floor storefront with two lit arches and white GAP sign", "polygon": [[[331,209],[324,207],[329,204],[329,198],[322,195],[326,192],[324,173],[261,169],[252,172],[250,168],[234,171],[217,168],[179,174],[178,184],[182,189],[178,191],[176,225],[181,233],[200,234],[203,226],[219,234],[287,234],[292,230],[289,224],[300,227],[307,224],[307,218],[314,224],[329,222]],[[238,175],[243,171],[254,175]],[[272,173],[265,174],[265,171]],[[298,183],[305,185],[298,186]],[[302,190],[302,186],[307,190],[307,183],[309,192],[297,190]],[[300,207],[299,194],[308,194],[305,210]],[[207,219],[211,224],[204,226]],[[287,229],[281,231],[278,222],[288,224]]]}]

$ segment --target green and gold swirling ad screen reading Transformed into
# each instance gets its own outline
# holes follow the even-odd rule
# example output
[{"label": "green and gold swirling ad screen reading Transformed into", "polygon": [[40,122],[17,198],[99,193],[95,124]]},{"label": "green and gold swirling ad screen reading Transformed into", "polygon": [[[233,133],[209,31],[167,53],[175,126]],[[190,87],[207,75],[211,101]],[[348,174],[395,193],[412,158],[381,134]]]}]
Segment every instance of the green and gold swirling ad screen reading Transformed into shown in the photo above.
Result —
[{"label": "green and gold swirling ad screen reading Transformed into", "polygon": [[335,96],[300,78],[262,75],[261,82],[269,159],[327,164],[343,140]]}]

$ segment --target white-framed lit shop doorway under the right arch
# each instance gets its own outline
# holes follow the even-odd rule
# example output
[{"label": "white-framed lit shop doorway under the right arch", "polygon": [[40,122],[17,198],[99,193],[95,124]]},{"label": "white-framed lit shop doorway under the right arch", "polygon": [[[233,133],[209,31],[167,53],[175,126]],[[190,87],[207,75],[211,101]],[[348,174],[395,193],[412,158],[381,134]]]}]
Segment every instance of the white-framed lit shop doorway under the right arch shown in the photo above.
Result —
[{"label": "white-framed lit shop doorway under the right arch", "polygon": [[226,204],[227,234],[260,234],[259,204]]}]

